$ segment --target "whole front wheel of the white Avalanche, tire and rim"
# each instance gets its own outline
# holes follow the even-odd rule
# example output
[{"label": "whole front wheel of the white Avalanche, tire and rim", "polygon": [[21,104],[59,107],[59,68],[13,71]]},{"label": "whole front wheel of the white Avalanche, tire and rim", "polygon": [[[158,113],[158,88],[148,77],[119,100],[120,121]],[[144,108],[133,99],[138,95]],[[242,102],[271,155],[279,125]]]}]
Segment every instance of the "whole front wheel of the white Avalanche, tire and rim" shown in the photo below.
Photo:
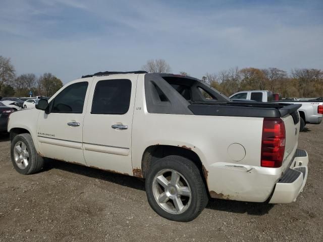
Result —
[{"label": "whole front wheel of the white Avalanche, tire and rim", "polygon": [[41,170],[44,163],[43,158],[35,149],[30,134],[20,134],[12,140],[11,160],[15,169],[24,175]]}]

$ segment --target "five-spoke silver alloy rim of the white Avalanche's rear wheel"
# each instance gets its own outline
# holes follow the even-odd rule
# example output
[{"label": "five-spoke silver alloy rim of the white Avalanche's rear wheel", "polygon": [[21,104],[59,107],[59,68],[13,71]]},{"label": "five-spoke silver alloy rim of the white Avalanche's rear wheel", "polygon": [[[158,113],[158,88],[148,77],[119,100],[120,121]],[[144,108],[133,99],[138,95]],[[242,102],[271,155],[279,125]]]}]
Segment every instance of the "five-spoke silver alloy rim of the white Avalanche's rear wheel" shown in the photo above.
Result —
[{"label": "five-spoke silver alloy rim of the white Avalanche's rear wheel", "polygon": [[185,177],[176,170],[160,170],[153,178],[152,192],[157,204],[166,212],[181,214],[191,204],[191,189]]}]

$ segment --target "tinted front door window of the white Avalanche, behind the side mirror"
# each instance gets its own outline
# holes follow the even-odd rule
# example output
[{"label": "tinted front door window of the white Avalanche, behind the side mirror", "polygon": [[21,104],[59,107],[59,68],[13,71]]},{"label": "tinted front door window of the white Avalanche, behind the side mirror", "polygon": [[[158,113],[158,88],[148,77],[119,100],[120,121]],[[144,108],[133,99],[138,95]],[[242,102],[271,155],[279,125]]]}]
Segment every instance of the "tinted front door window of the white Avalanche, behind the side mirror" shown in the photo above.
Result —
[{"label": "tinted front door window of the white Avalanche, behind the side mirror", "polygon": [[61,91],[53,100],[51,112],[82,113],[87,82],[77,82]]}]

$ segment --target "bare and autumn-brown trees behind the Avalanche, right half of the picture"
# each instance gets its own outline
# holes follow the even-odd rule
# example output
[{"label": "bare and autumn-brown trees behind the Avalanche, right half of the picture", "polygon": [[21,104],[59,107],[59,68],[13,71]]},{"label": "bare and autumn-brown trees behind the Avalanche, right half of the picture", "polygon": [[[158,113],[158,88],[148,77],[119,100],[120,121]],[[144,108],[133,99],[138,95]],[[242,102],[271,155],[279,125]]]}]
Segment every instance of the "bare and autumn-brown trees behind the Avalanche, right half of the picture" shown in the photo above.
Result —
[{"label": "bare and autumn-brown trees behind the Avalanche, right half of the picture", "polygon": [[[147,72],[170,73],[171,67],[163,59],[149,60],[142,67]],[[189,76],[186,72],[180,74]],[[202,80],[227,96],[246,90],[270,90],[282,97],[323,96],[323,71],[295,68],[288,74],[279,68],[231,68],[216,74],[206,73]]]}]

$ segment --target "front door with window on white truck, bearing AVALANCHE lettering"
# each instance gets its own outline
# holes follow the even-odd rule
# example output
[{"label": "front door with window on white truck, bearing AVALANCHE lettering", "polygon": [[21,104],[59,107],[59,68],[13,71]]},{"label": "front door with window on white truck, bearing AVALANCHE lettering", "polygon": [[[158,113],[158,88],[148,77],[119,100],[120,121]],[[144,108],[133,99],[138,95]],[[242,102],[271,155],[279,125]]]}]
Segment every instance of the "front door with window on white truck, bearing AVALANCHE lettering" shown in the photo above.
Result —
[{"label": "front door with window on white truck, bearing AVALANCHE lettering", "polygon": [[82,127],[88,82],[65,87],[49,102],[49,114],[38,117],[37,138],[40,153],[48,158],[85,165]]}]

